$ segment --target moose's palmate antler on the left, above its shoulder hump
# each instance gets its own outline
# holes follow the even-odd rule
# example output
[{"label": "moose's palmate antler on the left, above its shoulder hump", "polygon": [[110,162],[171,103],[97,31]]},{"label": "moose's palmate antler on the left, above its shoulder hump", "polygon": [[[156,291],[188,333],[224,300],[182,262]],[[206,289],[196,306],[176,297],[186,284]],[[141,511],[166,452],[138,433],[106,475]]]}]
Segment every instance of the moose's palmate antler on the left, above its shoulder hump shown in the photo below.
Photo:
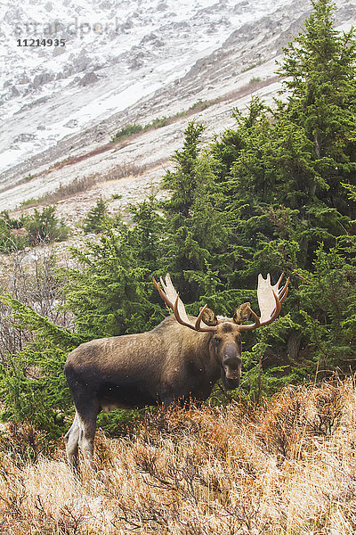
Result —
[{"label": "moose's palmate antler on the left, above its shoulder hump", "polygon": [[178,293],[174,288],[169,273],[166,274],[166,284],[163,282],[161,276],[159,277],[159,281],[160,284],[155,279],[153,279],[153,284],[155,284],[156,288],[158,289],[159,295],[165,301],[166,305],[168,305],[168,307],[174,310],[174,317],[178,323],[180,323],[181,325],[185,325],[186,327],[190,327],[190,329],[193,329],[194,331],[216,331],[216,326],[201,325],[201,318],[203,317],[206,306],[200,310],[195,322],[190,320],[185,311],[182,300],[180,299]]}]

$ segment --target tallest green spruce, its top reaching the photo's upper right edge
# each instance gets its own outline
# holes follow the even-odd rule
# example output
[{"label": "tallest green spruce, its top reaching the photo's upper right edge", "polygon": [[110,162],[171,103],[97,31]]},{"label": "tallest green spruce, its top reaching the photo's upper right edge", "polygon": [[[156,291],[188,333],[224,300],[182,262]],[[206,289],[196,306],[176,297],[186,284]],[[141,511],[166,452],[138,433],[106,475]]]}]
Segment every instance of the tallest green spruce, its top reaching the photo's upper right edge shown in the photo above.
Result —
[{"label": "tallest green spruce, its top reaching the photo's upper right edge", "polygon": [[355,32],[334,29],[330,0],[313,0],[312,6],[304,30],[284,48],[279,74],[287,77],[290,95],[281,117],[302,128],[310,143],[316,173],[306,182],[307,193],[319,193],[320,202],[354,217],[341,182],[354,184],[356,177]]}]

